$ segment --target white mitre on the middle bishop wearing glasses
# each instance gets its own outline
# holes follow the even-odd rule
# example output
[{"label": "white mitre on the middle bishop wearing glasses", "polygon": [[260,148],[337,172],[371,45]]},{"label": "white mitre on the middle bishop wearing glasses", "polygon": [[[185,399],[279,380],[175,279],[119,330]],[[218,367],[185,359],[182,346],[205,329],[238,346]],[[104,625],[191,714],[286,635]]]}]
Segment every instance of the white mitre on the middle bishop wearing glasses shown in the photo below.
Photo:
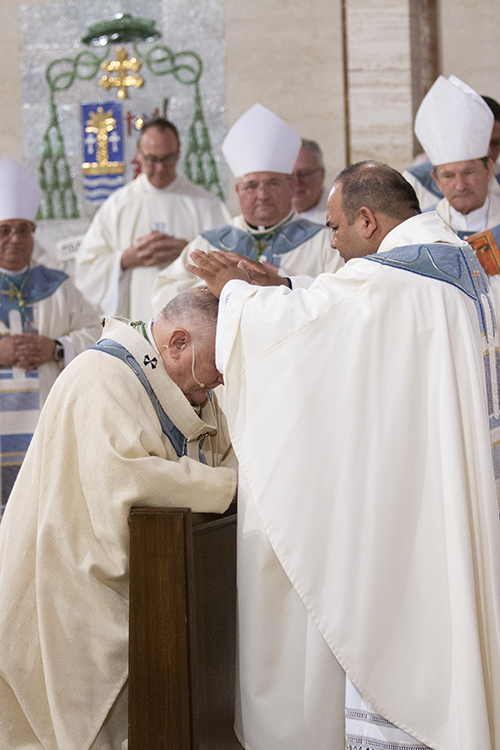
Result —
[{"label": "white mitre on the middle bishop wearing glasses", "polygon": [[254,104],[237,120],[222,144],[235,177],[252,172],[291,174],[302,142],[278,115]]}]

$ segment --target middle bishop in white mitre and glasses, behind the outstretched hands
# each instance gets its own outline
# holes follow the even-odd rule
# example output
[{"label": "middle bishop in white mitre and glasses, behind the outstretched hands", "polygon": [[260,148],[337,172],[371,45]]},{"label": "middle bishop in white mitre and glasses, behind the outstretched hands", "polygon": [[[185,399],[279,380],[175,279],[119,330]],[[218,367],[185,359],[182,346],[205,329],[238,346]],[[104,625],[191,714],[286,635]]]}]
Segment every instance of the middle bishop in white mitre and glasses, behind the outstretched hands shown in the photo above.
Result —
[{"label": "middle bishop in white mitre and glasses, behind the outstretched hands", "polygon": [[292,206],[292,173],[300,148],[294,129],[260,104],[235,122],[222,151],[237,180],[241,214],[225,226],[202,232],[160,271],[153,290],[154,311],[198,283],[186,270],[195,249],[236,252],[270,263],[283,277],[334,273],[344,265],[330,247],[325,227],[302,218]]}]

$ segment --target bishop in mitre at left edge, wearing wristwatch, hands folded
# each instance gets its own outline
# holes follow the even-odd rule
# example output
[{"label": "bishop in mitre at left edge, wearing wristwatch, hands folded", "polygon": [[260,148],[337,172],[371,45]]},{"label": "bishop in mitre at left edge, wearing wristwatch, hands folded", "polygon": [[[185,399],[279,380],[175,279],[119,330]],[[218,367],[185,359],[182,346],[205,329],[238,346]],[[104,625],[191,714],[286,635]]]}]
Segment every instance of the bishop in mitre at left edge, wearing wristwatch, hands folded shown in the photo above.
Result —
[{"label": "bishop in mitre at left edge, wearing wristwatch, hands folded", "polygon": [[42,191],[0,162],[0,476],[2,512],[48,392],[101,332],[97,311],[62,271],[32,258]]}]

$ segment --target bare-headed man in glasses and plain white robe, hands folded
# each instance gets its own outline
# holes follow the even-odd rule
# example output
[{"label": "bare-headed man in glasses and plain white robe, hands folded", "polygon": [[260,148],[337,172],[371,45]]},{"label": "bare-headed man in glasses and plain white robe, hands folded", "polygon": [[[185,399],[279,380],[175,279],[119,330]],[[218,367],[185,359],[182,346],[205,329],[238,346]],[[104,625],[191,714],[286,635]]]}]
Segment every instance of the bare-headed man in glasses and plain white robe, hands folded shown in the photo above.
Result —
[{"label": "bare-headed man in glasses and plain white robe, hands folded", "polygon": [[141,174],[103,203],[82,240],[75,283],[104,315],[148,320],[158,271],[230,218],[221,200],[176,173],[179,155],[175,125],[149,120],[137,142]]}]

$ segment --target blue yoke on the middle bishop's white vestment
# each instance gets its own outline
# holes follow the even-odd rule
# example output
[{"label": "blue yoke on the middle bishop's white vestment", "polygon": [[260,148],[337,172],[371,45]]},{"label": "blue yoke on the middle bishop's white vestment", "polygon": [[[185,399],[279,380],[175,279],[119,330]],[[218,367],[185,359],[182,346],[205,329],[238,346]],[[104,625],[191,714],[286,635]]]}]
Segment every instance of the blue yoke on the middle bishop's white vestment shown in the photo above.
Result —
[{"label": "blue yoke on the middle bishop's white vestment", "polygon": [[279,266],[281,258],[310,240],[324,227],[309,219],[296,219],[263,232],[245,232],[229,224],[202,232],[217,250],[239,253],[251,260],[266,261]]}]

